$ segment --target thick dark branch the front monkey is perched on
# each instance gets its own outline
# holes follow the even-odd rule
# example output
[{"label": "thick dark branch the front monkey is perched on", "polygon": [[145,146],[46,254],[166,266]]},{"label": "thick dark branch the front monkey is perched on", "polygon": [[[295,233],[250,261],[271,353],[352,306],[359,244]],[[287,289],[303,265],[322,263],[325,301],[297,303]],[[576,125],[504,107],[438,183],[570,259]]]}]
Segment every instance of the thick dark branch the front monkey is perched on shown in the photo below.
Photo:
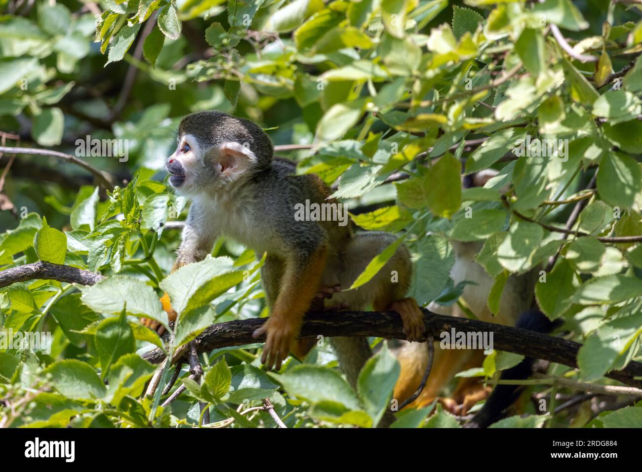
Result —
[{"label": "thick dark branch the front monkey is perched on", "polygon": [[[487,323],[479,320],[436,315],[424,309],[424,323],[427,335],[441,339],[442,333],[451,329],[462,332],[492,333],[494,349],[522,354],[526,357],[548,360],[549,362],[577,367],[577,352],[581,344],[563,338],[552,337],[528,331],[527,329],[512,328],[500,324]],[[218,323],[205,329],[194,342],[199,353],[244,344],[261,342],[264,338],[255,339],[252,332],[259,328],[265,319],[254,318]],[[308,313],[301,329],[301,337],[382,337],[388,339],[405,339],[401,318],[397,313],[377,313],[374,311],[340,311],[338,313]],[[154,349],[143,354],[143,358],[152,363],[160,363],[164,359],[160,349]],[[642,376],[642,363],[629,362],[621,371],[612,371],[606,375],[631,387],[642,388],[642,381],[636,377]]]}]

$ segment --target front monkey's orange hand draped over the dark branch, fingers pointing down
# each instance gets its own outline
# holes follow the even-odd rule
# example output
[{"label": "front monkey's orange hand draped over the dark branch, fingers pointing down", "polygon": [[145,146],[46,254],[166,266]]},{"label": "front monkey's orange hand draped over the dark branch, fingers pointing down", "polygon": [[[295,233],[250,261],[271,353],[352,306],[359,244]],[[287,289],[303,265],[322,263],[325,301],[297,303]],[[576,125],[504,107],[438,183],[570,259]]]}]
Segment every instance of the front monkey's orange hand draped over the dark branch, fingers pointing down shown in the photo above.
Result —
[{"label": "front monkey's orange hand draped over the dark branch, fingers pointing down", "polygon": [[290,354],[300,328],[297,323],[287,317],[272,315],[261,328],[252,333],[254,338],[266,335],[261,363],[267,369],[272,369],[272,367],[277,371],[281,369],[281,363]]}]

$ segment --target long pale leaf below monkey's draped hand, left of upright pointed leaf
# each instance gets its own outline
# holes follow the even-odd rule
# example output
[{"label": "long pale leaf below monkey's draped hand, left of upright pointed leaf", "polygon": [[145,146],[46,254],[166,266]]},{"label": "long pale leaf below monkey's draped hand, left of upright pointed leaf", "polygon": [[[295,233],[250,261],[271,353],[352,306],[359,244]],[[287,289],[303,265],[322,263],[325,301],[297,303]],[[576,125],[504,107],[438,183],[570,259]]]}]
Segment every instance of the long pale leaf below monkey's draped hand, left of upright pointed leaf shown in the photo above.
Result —
[{"label": "long pale leaf below monkey's draped hand, left of upright pointed leaf", "polygon": [[349,410],[360,410],[359,401],[338,372],[321,365],[297,365],[275,378],[288,394],[313,403],[334,401]]}]

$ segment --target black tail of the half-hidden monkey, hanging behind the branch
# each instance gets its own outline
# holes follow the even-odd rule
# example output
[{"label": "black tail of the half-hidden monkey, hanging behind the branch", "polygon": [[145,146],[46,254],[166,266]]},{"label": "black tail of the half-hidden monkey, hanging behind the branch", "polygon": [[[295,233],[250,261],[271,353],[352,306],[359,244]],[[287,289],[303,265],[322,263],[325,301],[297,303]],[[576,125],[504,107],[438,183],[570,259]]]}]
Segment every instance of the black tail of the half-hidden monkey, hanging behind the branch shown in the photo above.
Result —
[{"label": "black tail of the half-hidden monkey, hanging behind the branch", "polygon": [[[525,311],[517,320],[516,328],[529,329],[537,333],[550,333],[558,326],[546,318],[546,315],[539,310]],[[501,380],[524,380],[532,374],[534,359],[527,357],[515,367],[511,367],[501,373]],[[521,394],[519,385],[496,385],[479,410],[464,428],[487,428],[503,418],[507,410]]]}]

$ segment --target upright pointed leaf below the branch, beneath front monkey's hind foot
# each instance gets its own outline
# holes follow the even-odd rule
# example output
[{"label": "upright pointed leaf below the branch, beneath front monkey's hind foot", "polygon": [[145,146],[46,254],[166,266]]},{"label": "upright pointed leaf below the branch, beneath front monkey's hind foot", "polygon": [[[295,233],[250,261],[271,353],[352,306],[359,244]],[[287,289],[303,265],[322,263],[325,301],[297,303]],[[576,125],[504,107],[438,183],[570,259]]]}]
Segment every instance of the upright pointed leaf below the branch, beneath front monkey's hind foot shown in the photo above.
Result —
[{"label": "upright pointed leaf below the branch, beneath front monkey's hind foot", "polygon": [[388,349],[387,342],[383,343],[381,350],[361,369],[357,392],[365,411],[372,418],[372,424],[378,424],[386,412],[399,372],[401,367]]}]

